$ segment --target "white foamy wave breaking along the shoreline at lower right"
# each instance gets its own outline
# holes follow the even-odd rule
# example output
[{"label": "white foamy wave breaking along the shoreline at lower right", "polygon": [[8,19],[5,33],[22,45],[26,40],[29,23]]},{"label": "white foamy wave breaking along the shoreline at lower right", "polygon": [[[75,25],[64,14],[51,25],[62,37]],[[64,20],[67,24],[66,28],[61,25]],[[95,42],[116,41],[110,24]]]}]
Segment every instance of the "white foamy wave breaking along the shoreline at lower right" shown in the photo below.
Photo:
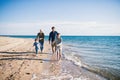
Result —
[{"label": "white foamy wave breaking along the shoreline at lower right", "polygon": [[[72,61],[75,65],[82,67],[90,72],[101,75],[109,80],[119,80],[120,79],[119,71],[116,72],[117,70],[113,70],[110,68],[109,69],[108,68],[100,68],[100,67],[96,67],[96,66],[87,65],[81,60],[81,56],[74,52],[64,52],[64,57],[65,57],[65,59]],[[111,70],[111,71],[109,71],[109,70]]]}]

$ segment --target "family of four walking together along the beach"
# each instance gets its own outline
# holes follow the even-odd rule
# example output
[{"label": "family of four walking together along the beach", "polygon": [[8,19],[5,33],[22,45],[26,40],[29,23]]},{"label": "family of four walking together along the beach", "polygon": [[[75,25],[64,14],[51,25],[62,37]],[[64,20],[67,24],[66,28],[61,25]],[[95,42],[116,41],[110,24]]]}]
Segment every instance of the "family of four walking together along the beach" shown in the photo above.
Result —
[{"label": "family of four walking together along the beach", "polygon": [[[62,56],[62,39],[60,36],[60,33],[55,31],[55,27],[53,26],[52,31],[49,33],[49,44],[51,44],[52,47],[52,53],[57,54],[57,60],[61,59]],[[40,32],[37,34],[37,37],[35,38],[35,42],[33,46],[35,46],[36,55],[38,54],[38,50],[40,48],[41,53],[44,49],[44,33],[40,29]]]}]

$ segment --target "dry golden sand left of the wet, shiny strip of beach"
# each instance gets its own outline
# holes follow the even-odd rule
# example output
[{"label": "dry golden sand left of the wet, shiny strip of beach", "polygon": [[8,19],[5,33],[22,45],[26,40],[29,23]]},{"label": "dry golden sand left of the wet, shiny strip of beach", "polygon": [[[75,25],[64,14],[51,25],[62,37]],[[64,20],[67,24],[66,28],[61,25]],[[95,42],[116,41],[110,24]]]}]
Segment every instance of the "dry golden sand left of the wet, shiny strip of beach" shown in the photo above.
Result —
[{"label": "dry golden sand left of the wet, shiny strip of beach", "polygon": [[44,70],[50,45],[35,55],[33,39],[0,37],[0,80],[34,80]]}]

